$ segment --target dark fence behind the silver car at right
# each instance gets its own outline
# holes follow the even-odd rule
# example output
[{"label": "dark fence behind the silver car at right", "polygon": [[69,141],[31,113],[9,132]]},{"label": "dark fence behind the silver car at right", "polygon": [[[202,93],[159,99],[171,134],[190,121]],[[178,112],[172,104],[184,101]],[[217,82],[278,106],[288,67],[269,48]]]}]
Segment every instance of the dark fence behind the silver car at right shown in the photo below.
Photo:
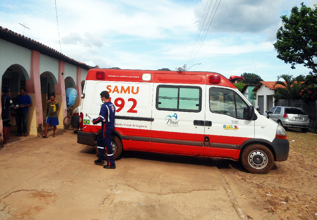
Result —
[{"label": "dark fence behind the silver car at right", "polygon": [[305,102],[303,100],[287,100],[287,99],[279,99],[275,100],[275,106],[289,106],[289,107],[297,107],[303,109],[310,118],[310,127],[315,128],[316,118],[317,118],[317,101],[309,101]]}]

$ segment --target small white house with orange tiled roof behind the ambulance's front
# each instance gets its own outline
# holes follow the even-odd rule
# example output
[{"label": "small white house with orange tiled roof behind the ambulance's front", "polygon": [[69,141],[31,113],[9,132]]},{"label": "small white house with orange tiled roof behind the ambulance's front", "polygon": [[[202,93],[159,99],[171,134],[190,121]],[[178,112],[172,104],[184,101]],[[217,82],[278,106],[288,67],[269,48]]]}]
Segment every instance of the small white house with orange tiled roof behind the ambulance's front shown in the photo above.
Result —
[{"label": "small white house with orange tiled roof behind the ambulance's front", "polygon": [[277,84],[276,81],[261,81],[252,91],[256,92],[256,106],[259,106],[260,113],[264,113],[274,107],[275,90],[277,88],[285,88],[285,86]]}]

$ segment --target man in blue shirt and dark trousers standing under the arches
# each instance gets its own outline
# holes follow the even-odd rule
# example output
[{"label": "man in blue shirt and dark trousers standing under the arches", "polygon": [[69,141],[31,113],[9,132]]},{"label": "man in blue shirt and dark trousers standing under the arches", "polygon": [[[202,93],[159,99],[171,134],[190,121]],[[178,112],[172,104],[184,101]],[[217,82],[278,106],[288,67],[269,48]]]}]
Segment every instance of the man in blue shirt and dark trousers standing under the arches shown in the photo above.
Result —
[{"label": "man in blue shirt and dark trousers standing under the arches", "polygon": [[16,136],[22,135],[22,125],[23,125],[23,133],[24,136],[28,136],[27,134],[27,119],[28,119],[28,111],[29,106],[32,105],[31,97],[26,94],[26,90],[23,88],[20,90],[20,95],[16,97],[16,103],[18,104],[18,108],[16,111],[16,125],[18,133]]}]

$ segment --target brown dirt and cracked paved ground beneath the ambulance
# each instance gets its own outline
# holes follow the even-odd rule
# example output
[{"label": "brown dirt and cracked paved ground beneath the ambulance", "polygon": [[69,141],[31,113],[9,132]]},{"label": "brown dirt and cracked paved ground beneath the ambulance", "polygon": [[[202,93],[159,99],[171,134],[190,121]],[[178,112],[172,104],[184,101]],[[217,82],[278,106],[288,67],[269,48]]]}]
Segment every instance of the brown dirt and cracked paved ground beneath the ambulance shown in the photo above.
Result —
[{"label": "brown dirt and cracked paved ground beneath the ambulance", "polygon": [[313,133],[289,129],[288,160],[262,175],[233,160],[135,151],[106,170],[72,131],[56,134],[11,135],[0,148],[0,219],[317,219]]}]

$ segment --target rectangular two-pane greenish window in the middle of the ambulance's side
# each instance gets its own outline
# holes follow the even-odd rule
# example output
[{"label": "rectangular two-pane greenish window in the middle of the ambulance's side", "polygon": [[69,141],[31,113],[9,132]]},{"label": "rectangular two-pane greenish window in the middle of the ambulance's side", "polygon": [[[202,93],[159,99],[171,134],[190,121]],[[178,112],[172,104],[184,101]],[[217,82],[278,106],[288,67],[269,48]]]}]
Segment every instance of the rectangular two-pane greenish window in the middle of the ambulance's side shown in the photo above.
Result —
[{"label": "rectangular two-pane greenish window in the middle of the ambulance's side", "polygon": [[156,108],[173,111],[201,111],[202,89],[198,86],[159,85]]}]

